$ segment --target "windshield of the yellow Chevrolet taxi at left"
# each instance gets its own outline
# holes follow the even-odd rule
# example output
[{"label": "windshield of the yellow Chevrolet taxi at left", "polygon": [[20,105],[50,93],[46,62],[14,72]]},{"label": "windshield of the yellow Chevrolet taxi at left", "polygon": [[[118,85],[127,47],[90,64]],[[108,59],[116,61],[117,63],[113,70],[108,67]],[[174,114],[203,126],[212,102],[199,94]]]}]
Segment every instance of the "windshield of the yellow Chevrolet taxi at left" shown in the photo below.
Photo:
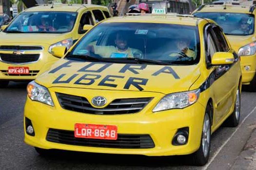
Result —
[{"label": "windshield of the yellow Chevrolet taxi at left", "polygon": [[70,32],[77,18],[74,12],[25,12],[8,26],[7,33]]}]

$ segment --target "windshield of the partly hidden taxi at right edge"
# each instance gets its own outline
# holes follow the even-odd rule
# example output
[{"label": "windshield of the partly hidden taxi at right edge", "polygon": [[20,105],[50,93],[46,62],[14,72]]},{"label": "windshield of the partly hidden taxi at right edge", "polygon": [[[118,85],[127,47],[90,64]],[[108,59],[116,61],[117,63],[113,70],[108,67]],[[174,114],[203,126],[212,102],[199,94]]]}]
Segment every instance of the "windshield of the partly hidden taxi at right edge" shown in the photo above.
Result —
[{"label": "windshield of the partly hidden taxi at right edge", "polygon": [[254,15],[241,13],[196,13],[196,17],[214,20],[227,35],[254,34]]}]

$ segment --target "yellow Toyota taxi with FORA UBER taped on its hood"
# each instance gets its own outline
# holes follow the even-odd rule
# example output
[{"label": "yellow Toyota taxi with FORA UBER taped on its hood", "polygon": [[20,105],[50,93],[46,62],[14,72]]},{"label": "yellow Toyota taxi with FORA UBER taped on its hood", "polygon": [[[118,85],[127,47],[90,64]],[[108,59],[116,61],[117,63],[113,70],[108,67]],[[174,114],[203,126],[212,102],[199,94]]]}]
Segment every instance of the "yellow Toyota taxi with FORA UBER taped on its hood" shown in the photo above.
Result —
[{"label": "yellow Toyota taxi with FORA UBER taped on its hood", "polygon": [[[52,49],[59,57],[65,50]],[[212,20],[104,20],[28,84],[24,140],[40,154],[192,154],[193,164],[204,165],[211,134],[225,120],[239,122],[241,70],[233,52]]]}]

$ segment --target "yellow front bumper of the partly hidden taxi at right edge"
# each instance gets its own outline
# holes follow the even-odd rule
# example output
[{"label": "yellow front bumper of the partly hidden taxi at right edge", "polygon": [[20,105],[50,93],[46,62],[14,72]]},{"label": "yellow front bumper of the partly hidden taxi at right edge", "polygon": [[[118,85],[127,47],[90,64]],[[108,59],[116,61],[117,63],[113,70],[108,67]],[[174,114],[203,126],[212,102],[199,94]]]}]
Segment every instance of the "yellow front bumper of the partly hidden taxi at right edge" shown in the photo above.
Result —
[{"label": "yellow front bumper of the partly hidden taxi at right edge", "polygon": [[[256,72],[256,55],[251,56],[241,56],[241,69],[242,69],[242,83],[248,84],[250,83]],[[246,70],[245,67],[249,66],[251,69]]]}]

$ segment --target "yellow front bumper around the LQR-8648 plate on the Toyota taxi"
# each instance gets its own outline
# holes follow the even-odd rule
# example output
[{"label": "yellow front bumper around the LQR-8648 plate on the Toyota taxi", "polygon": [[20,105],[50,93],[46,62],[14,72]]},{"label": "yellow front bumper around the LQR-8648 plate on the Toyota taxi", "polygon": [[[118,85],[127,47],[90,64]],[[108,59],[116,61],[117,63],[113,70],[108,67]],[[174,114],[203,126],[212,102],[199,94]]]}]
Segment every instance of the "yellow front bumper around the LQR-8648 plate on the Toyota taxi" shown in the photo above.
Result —
[{"label": "yellow front bumper around the LQR-8648 plate on the Toyota taxi", "polygon": [[[91,94],[95,94],[94,90],[90,91]],[[106,91],[101,91],[101,93],[104,92]],[[137,93],[143,92],[129,93],[136,96]],[[135,114],[94,115],[65,110],[60,107],[55,95],[51,95],[55,103],[54,107],[31,101],[29,98],[26,101],[24,119],[30,119],[35,130],[35,136],[29,136],[25,132],[24,141],[29,145],[43,149],[150,156],[190,154],[199,148],[205,113],[205,108],[199,102],[184,109],[152,113],[151,110],[163,97],[161,94],[156,96],[142,111]],[[150,149],[101,148],[67,145],[46,140],[49,128],[74,131],[75,123],[116,125],[118,134],[148,134],[153,139],[155,147]],[[172,145],[177,129],[183,127],[189,127],[188,143],[180,146]]]}]

